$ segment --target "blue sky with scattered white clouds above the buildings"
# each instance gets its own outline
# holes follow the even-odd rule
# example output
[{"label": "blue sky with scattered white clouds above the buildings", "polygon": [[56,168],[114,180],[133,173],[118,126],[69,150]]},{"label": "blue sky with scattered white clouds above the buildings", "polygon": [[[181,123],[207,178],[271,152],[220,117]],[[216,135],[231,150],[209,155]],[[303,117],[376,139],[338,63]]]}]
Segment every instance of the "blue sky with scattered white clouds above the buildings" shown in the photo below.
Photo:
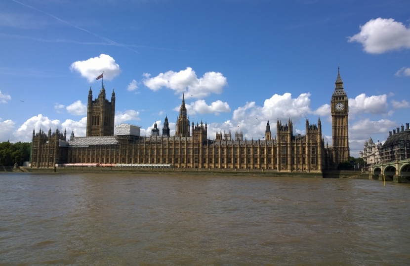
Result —
[{"label": "blue sky with scattered white clouds above the buildings", "polygon": [[[322,121],[337,69],[349,97],[351,155],[409,123],[409,0],[3,0],[0,141],[33,128],[85,135],[86,101],[115,89],[116,124],[149,135],[165,115],[215,132],[294,134]],[[256,119],[257,118],[257,119]]]}]

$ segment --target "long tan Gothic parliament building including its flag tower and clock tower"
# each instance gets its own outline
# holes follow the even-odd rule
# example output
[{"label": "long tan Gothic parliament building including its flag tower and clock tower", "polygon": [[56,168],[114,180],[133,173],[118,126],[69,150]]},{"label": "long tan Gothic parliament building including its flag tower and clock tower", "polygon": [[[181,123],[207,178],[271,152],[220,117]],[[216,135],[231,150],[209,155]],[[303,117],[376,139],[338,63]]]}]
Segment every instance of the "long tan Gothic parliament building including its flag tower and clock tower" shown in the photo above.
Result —
[{"label": "long tan Gothic parliament building including its flag tower and clock tower", "polygon": [[[169,165],[175,168],[271,169],[284,172],[321,172],[337,169],[349,160],[348,98],[338,70],[330,100],[332,145],[325,144],[320,118],[317,124],[306,119],[305,134],[293,134],[290,118],[276,121],[272,137],[266,122],[263,140],[244,139],[242,131],[207,135],[207,124],[190,123],[184,96],[176,120],[175,135],[170,135],[165,117],[162,134],[157,124],[150,136],[141,136],[140,128],[114,126],[115,93],[106,99],[105,88],[92,99],[88,92],[86,136],[77,137],[56,129],[47,133],[33,130],[31,167],[56,165],[118,164]],[[116,134],[114,134],[116,128]]]}]

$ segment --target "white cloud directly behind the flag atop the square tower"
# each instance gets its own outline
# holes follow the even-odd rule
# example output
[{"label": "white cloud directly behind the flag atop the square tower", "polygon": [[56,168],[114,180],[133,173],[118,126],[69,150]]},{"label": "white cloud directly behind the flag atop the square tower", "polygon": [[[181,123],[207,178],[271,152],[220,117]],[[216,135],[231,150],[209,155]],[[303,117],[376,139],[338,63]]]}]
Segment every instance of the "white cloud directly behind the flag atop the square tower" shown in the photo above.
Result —
[{"label": "white cloud directly behind the flag atop the square tower", "polygon": [[114,58],[101,54],[98,57],[71,64],[71,71],[79,72],[88,82],[93,82],[104,71],[104,79],[112,80],[121,72],[120,66],[115,63]]}]

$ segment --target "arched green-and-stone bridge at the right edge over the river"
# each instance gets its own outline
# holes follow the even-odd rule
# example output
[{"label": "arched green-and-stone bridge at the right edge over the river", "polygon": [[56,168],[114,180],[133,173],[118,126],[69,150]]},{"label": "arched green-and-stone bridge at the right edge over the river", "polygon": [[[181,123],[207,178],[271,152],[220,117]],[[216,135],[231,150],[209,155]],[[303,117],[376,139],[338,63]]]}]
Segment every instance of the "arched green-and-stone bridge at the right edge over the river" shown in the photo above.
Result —
[{"label": "arched green-and-stone bridge at the right edge over the river", "polygon": [[410,159],[370,166],[373,179],[410,183]]}]

